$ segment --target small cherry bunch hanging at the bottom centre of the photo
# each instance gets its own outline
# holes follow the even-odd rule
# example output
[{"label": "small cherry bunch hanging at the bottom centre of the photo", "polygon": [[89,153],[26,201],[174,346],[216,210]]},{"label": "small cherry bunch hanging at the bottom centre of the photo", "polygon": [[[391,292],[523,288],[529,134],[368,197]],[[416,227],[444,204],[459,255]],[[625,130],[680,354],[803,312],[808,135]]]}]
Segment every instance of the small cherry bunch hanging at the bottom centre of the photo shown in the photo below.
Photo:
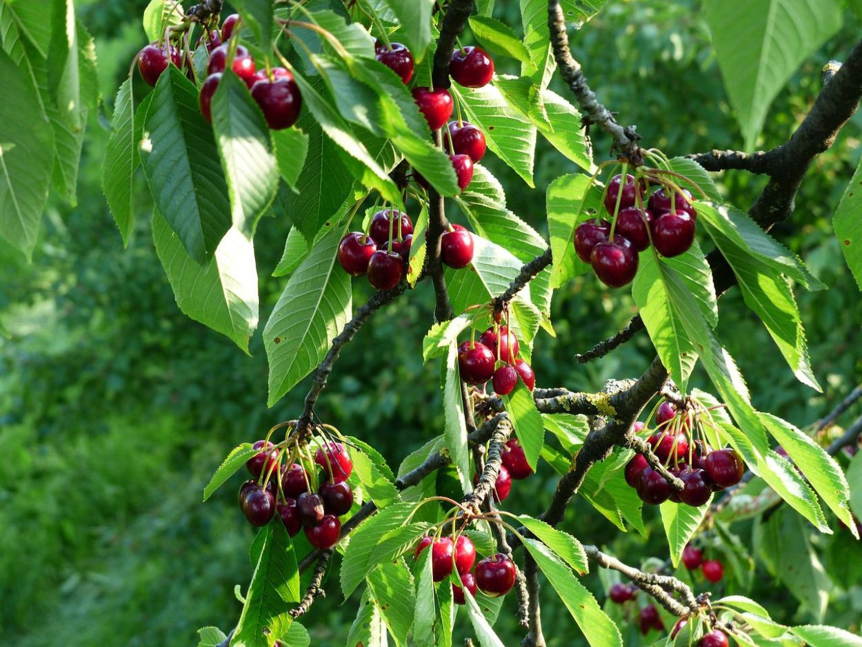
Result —
[{"label": "small cherry bunch hanging at the bottom centre of the photo", "polygon": [[476,546],[470,537],[458,535],[452,537],[422,537],[413,558],[419,559],[422,550],[431,547],[431,573],[434,581],[443,581],[457,569],[464,587],[453,582],[452,597],[456,604],[465,604],[464,588],[476,595],[477,590],[490,598],[497,598],[509,593],[515,586],[515,562],[508,555],[497,553],[485,557],[476,564]]}]

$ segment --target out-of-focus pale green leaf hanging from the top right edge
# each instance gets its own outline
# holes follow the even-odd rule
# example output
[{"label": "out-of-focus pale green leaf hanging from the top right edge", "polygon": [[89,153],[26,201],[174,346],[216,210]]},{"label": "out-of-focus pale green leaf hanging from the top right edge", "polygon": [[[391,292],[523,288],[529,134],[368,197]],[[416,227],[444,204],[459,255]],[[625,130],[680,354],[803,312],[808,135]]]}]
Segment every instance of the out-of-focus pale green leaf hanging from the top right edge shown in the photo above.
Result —
[{"label": "out-of-focus pale green leaf hanging from the top right edge", "polygon": [[836,0],[704,3],[730,103],[752,150],[772,99],[841,26]]}]

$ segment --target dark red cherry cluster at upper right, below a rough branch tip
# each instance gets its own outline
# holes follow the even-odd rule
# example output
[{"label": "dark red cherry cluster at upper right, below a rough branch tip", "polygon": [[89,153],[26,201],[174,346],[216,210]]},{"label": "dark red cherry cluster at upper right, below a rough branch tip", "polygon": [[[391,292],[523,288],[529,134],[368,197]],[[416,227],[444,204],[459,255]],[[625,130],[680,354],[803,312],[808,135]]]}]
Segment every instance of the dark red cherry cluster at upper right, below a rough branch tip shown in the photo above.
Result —
[{"label": "dark red cherry cluster at upper right, below a rough branch tip", "polygon": [[615,175],[604,196],[611,222],[602,218],[580,223],[575,229],[575,252],[605,285],[622,287],[638,272],[638,252],[652,242],[663,256],[678,256],[695,240],[696,211],[691,193],[659,186],[643,206],[647,187],[634,176]]}]

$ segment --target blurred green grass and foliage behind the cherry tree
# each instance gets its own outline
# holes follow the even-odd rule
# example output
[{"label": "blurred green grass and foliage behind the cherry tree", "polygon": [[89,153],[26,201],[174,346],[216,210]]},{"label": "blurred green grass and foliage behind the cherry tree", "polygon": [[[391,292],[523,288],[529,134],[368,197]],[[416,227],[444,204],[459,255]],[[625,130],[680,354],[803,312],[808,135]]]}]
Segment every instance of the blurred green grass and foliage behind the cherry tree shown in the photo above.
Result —
[{"label": "blurred green grass and foliage behind the cherry tree", "polygon": [[[96,37],[109,113],[129,61],[144,45],[140,16],[147,2],[77,4]],[[517,3],[497,4],[497,17],[518,24]],[[621,112],[623,122],[636,123],[649,146],[671,155],[740,146],[697,9],[690,1],[615,0],[572,37],[599,97]],[[816,96],[823,63],[846,55],[858,33],[859,23],[848,15],[840,35],[796,74],[772,107],[762,148],[787,138]],[[510,61],[497,61],[497,68],[516,72]],[[556,89],[565,95],[565,88]],[[721,300],[721,338],[739,361],[754,404],[800,426],[848,393],[862,367],[854,352],[862,303],[829,225],[858,162],[860,125],[857,116],[834,149],[815,162],[793,222],[774,232],[830,288],[797,294],[825,393],[794,380],[738,293]],[[78,205],[50,205],[32,265],[0,242],[0,317],[12,333],[11,340],[0,339],[0,644],[9,647],[187,645],[197,644],[195,631],[203,625],[227,631],[240,610],[234,585],[245,587],[251,574],[253,531],[236,509],[233,481],[205,505],[203,485],[234,445],[295,418],[306,390],[306,383],[297,386],[268,410],[259,334],[248,357],[178,311],[153,251],[152,204],[143,185],[137,229],[122,249],[100,189],[107,138],[107,117],[92,115]],[[609,141],[597,135],[594,143],[597,160],[604,159]],[[540,144],[538,188],[530,191],[498,160],[486,160],[507,188],[510,208],[547,232],[544,189],[574,167]],[[763,185],[745,173],[718,180],[728,201],[742,208]],[[259,226],[262,321],[284,286],[269,275],[287,229],[272,218]],[[357,304],[369,294],[364,281],[356,281],[354,291]],[[324,420],[378,447],[395,467],[442,429],[437,369],[423,367],[421,355],[432,306],[430,286],[422,285],[375,317],[359,343],[342,353],[317,408]],[[643,335],[602,361],[579,366],[572,360],[634,312],[626,291],[604,290],[592,276],[559,290],[553,303],[557,337],[542,333],[535,342],[538,384],[596,390],[609,377],[640,374],[653,356]],[[859,407],[840,422],[849,424],[853,413]],[[235,485],[240,478],[234,477]],[[516,483],[506,507],[541,512],[554,484],[546,468]],[[578,500],[565,527],[630,563],[647,556],[664,560],[660,523],[654,511],[646,517],[652,521],[647,538],[622,535]],[[750,525],[734,531],[750,544]],[[833,550],[834,541],[817,543],[835,584],[825,621],[859,631],[862,592],[840,574],[844,560],[858,560],[862,550],[858,543]],[[601,590],[596,575],[586,582]],[[703,589],[703,581],[696,586]],[[331,588],[303,618],[314,644],[343,644],[353,621],[356,600],[342,604],[337,587]],[[750,595],[779,621],[810,620],[768,577],[755,577]],[[579,644],[571,619],[547,588],[543,605],[548,644]],[[512,612],[514,600],[507,600],[497,623],[504,644],[521,638]],[[623,631],[639,644],[624,620]]]}]

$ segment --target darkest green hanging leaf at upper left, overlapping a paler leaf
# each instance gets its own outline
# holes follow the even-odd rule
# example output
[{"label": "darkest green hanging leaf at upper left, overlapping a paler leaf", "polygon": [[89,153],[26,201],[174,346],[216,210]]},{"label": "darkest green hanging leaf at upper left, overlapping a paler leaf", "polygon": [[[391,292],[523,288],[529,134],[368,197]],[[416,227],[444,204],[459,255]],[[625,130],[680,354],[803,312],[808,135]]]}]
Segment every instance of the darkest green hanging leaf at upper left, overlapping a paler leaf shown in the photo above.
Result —
[{"label": "darkest green hanging leaf at upper left, overlapping a paler leaf", "polygon": [[156,207],[203,264],[230,229],[228,186],[197,88],[173,65],[156,83],[146,128],[141,158]]}]

